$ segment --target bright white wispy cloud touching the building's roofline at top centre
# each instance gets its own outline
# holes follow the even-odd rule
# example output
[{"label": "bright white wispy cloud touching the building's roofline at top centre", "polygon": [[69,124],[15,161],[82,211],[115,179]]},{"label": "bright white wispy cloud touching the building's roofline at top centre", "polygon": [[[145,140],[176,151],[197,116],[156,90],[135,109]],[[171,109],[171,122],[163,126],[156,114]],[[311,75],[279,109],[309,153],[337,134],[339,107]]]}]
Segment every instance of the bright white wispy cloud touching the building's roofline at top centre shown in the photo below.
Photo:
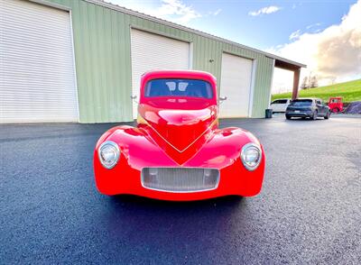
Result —
[{"label": "bright white wispy cloud touching the building's roofline at top centre", "polygon": [[[197,10],[191,5],[186,5],[181,0],[161,0],[161,5],[154,6],[150,5],[150,2],[139,2],[139,1],[127,1],[127,0],[106,0],[115,5],[124,6],[141,12],[143,14],[153,15],[173,23],[187,24],[191,20],[202,17]],[[214,14],[219,14],[216,11]],[[217,14],[216,14],[217,13]]]}]

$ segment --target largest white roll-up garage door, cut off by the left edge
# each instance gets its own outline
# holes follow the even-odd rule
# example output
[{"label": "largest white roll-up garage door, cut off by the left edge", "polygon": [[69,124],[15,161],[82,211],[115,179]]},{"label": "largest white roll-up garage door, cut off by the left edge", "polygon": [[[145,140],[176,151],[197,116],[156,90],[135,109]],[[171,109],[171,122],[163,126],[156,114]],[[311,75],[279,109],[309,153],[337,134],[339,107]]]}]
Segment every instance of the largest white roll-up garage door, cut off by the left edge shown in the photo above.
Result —
[{"label": "largest white roll-up garage door, cut off by the left edge", "polygon": [[0,123],[78,122],[69,13],[0,0]]}]

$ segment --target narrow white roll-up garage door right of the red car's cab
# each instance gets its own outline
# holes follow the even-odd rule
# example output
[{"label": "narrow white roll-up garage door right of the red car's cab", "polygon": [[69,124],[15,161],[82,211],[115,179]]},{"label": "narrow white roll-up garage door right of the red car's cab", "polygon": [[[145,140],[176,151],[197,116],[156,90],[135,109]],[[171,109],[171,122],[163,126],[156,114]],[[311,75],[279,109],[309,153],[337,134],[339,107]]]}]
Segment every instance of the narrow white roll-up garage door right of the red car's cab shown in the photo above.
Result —
[{"label": "narrow white roll-up garage door right of the red car's cab", "polygon": [[252,68],[252,59],[223,53],[220,94],[227,100],[220,105],[221,117],[249,116]]}]

